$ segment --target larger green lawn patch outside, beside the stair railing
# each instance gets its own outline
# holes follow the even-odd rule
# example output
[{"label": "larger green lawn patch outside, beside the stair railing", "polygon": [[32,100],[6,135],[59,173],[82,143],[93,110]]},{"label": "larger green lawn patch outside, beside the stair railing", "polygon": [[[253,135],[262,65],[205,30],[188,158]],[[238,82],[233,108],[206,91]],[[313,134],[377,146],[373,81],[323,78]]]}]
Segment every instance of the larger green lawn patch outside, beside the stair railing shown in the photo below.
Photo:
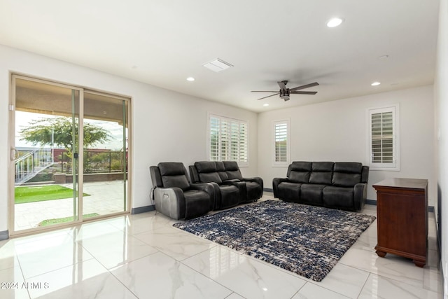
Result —
[{"label": "larger green lawn patch outside, beside the stair railing", "polygon": [[[78,193],[76,193],[78,195]],[[83,196],[90,196],[83,193]],[[59,185],[15,187],[15,203],[43,202],[73,197],[73,189]]]}]

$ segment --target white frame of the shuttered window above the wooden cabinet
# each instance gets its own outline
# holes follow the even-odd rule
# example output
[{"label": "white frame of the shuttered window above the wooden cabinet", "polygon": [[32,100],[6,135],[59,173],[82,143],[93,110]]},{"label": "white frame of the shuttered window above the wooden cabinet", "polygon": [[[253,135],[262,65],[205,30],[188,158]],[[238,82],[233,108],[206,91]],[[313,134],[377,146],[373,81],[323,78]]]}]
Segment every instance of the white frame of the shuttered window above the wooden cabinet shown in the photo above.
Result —
[{"label": "white frame of the shuttered window above the wooden cabinet", "polygon": [[[400,106],[392,104],[367,109],[367,161],[370,170],[400,171]],[[372,115],[392,113],[392,162],[372,162]]]}]

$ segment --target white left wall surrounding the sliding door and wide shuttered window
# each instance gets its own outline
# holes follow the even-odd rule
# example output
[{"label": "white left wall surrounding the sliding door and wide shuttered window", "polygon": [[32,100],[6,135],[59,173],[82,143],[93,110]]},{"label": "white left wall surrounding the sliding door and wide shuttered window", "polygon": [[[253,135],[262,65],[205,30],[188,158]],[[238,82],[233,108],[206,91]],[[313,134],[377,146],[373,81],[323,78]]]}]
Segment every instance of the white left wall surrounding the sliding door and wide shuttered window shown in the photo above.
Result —
[{"label": "white left wall surrounding the sliding door and wide shuttered window", "polygon": [[248,120],[249,166],[241,172],[244,176],[258,173],[256,113],[0,45],[0,232],[8,230],[10,72],[132,97],[133,208],[151,204],[149,166],[176,161],[188,167],[197,160],[208,160],[207,113]]}]

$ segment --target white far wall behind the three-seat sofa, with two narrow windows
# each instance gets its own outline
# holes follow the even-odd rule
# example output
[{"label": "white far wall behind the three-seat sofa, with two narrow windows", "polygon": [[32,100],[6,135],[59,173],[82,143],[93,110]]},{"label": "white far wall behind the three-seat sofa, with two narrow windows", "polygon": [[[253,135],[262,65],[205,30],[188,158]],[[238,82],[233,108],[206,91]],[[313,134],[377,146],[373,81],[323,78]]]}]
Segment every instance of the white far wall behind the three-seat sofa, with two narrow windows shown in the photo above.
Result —
[{"label": "white far wall behind the three-seat sofa, with two narrow windows", "polygon": [[376,200],[372,183],[388,177],[428,179],[433,206],[436,184],[432,86],[260,113],[258,172],[266,188],[272,188],[274,177],[286,177],[287,170],[287,167],[272,167],[273,121],[290,119],[291,161],[353,161],[367,165],[367,109],[397,103],[400,106],[400,171],[371,170],[367,198]]}]

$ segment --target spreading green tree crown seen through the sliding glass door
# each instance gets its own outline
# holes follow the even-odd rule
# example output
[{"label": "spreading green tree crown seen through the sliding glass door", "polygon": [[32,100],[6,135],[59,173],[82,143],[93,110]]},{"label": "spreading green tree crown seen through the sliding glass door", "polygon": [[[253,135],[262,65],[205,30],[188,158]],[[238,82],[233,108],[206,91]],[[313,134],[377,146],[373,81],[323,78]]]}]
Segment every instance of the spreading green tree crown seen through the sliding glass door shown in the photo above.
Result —
[{"label": "spreading green tree crown seen through the sliding glass door", "polygon": [[[76,146],[78,144],[78,122],[75,122],[75,134],[76,134]],[[109,140],[109,132],[102,127],[92,125],[90,123],[84,123],[84,147],[93,146],[98,142],[104,142]],[[20,140],[25,140],[36,146],[40,144],[55,145],[64,147],[67,151],[67,155],[71,157],[73,151],[73,123],[71,118],[57,117],[57,118],[39,118],[37,120],[31,120],[29,127],[22,128],[20,130]]]}]

